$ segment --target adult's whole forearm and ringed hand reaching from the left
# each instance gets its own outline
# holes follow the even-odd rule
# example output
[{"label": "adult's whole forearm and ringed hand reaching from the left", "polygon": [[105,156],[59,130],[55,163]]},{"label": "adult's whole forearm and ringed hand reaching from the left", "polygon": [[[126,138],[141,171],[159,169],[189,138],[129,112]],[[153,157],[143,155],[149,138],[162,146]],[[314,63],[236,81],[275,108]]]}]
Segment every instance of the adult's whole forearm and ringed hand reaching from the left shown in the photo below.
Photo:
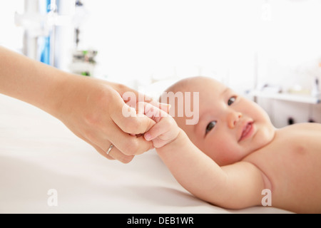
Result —
[{"label": "adult's whole forearm and ringed hand reaching from the left", "polygon": [[[0,93],[54,115],[104,157],[127,163],[153,148],[140,135],[155,122],[144,115],[123,115],[122,95],[131,91],[139,98],[135,90],[60,71],[1,46],[0,59]],[[111,144],[114,147],[107,155]]]}]

